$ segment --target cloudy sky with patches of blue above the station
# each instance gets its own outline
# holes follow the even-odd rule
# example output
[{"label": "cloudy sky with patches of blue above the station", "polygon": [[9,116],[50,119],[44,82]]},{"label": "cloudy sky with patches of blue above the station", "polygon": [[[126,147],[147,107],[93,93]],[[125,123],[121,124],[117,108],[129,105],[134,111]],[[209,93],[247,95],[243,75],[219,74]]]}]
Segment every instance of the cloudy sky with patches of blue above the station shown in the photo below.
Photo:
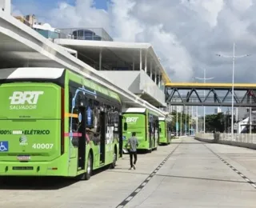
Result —
[{"label": "cloudy sky with patches of blue above the station", "polygon": [[[104,27],[116,41],[150,42],[173,82],[214,77],[255,82],[256,1],[253,0],[12,0],[14,14],[35,14],[54,27]],[[255,61],[254,61],[255,60]]]}]

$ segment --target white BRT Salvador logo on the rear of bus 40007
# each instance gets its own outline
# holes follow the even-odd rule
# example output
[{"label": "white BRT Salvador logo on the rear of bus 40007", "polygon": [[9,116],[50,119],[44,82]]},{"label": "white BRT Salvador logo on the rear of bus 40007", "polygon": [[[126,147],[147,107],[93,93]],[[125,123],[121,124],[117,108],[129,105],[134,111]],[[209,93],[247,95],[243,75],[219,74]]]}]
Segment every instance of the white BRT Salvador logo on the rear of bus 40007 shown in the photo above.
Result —
[{"label": "white BRT Salvador logo on the rear of bus 40007", "polygon": [[44,94],[43,91],[15,91],[13,95],[9,98],[10,110],[36,109],[38,98],[42,94]]}]

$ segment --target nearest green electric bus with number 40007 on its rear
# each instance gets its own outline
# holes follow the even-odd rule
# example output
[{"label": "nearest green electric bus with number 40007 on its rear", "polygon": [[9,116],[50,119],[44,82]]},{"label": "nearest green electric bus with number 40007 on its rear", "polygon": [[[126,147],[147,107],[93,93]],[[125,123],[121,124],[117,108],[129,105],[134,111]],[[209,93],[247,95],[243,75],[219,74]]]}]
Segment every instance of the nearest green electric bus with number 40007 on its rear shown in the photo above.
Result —
[{"label": "nearest green electric bus with number 40007 on its rear", "polygon": [[82,75],[2,69],[0,96],[0,176],[88,180],[92,170],[114,168],[122,157],[118,94]]}]

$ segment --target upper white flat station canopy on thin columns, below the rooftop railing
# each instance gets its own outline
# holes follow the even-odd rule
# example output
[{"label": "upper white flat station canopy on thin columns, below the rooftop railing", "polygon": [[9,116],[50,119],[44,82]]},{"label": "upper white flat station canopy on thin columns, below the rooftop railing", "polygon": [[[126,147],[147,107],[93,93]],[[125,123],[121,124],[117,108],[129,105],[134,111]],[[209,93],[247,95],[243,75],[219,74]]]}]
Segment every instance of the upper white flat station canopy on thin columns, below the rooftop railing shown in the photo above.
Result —
[{"label": "upper white flat station canopy on thin columns, below the rooftop railing", "polygon": [[99,40],[99,36],[96,40],[84,36],[70,38],[68,34],[74,34],[74,31],[82,29],[58,30],[66,35],[54,39],[54,43],[76,50],[78,58],[96,70],[139,70],[141,66],[145,70],[146,66],[147,74],[150,74],[152,68],[152,73],[161,75],[164,83],[170,82],[166,70],[150,43],[113,42],[110,38]]}]

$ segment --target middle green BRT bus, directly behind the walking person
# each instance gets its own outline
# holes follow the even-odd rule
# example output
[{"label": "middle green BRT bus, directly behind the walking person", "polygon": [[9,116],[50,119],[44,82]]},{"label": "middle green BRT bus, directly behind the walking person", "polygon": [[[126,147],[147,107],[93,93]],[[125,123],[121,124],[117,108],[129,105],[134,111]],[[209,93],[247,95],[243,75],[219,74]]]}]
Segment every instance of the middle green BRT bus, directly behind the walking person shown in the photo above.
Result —
[{"label": "middle green BRT bus, directly behind the walking person", "polygon": [[146,108],[128,108],[122,111],[123,122],[126,129],[123,130],[123,144],[136,132],[138,138],[138,150],[157,150],[159,143],[158,114]]}]

